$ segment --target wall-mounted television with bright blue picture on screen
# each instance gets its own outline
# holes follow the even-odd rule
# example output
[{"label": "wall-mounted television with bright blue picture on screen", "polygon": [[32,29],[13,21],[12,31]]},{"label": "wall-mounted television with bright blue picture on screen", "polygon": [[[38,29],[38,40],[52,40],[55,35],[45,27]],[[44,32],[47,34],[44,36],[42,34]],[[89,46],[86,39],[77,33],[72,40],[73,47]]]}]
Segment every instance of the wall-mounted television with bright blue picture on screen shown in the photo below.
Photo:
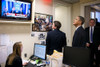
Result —
[{"label": "wall-mounted television with bright blue picture on screen", "polygon": [[32,2],[1,0],[0,18],[31,20]]}]

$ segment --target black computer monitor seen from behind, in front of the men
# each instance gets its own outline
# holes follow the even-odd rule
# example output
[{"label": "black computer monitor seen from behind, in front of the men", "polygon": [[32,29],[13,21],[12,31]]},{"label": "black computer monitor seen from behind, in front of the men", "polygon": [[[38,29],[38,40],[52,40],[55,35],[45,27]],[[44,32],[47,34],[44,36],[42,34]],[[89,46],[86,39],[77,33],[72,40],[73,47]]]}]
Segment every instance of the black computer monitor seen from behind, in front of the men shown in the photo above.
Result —
[{"label": "black computer monitor seen from behind, in front of the men", "polygon": [[64,47],[63,63],[75,67],[90,67],[88,48]]}]

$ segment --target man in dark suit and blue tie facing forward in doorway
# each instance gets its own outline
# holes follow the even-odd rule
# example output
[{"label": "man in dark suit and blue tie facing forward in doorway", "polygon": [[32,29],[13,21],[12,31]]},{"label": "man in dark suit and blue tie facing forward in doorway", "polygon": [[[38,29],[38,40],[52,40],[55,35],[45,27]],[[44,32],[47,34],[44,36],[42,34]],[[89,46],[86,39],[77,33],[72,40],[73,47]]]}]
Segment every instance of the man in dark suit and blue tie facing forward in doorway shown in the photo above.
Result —
[{"label": "man in dark suit and blue tie facing forward in doorway", "polygon": [[87,38],[86,46],[91,50],[91,64],[92,64],[91,67],[93,67],[94,55],[96,56],[96,67],[99,67],[97,55],[98,55],[98,46],[100,44],[99,43],[100,34],[99,34],[99,28],[95,26],[95,19],[90,19],[89,27],[87,27],[85,31]]}]

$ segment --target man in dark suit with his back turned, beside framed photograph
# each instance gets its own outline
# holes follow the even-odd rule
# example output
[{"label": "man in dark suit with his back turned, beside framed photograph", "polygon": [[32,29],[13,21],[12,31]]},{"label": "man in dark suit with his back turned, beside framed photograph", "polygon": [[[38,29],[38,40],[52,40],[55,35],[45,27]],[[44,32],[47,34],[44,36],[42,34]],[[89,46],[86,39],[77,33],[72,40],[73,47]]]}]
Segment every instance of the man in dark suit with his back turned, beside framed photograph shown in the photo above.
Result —
[{"label": "man in dark suit with his back turned, beside framed photograph", "polygon": [[62,52],[62,47],[66,45],[66,35],[60,31],[61,23],[54,21],[52,25],[53,31],[48,32],[46,38],[47,54],[52,55],[53,50]]}]

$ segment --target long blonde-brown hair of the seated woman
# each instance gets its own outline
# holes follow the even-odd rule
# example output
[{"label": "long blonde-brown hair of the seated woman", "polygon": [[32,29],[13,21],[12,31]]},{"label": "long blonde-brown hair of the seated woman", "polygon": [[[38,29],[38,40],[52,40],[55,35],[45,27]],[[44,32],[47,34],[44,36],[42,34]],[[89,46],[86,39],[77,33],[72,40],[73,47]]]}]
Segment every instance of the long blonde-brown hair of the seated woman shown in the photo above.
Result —
[{"label": "long blonde-brown hair of the seated woman", "polygon": [[21,57],[21,48],[22,48],[22,43],[21,42],[16,42],[13,46],[13,53],[8,56],[8,65],[12,65],[12,62],[16,56]]}]

